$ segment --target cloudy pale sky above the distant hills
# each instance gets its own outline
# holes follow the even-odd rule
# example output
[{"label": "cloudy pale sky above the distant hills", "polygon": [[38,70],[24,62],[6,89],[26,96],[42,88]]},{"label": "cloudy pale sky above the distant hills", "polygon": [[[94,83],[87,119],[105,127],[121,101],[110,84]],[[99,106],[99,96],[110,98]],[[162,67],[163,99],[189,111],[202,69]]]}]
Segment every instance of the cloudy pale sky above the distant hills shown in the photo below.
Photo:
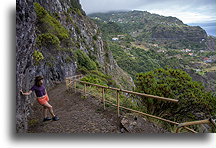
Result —
[{"label": "cloudy pale sky above the distant hills", "polygon": [[216,20],[216,0],[80,0],[87,14],[113,10],[143,10],[174,16],[184,23]]}]

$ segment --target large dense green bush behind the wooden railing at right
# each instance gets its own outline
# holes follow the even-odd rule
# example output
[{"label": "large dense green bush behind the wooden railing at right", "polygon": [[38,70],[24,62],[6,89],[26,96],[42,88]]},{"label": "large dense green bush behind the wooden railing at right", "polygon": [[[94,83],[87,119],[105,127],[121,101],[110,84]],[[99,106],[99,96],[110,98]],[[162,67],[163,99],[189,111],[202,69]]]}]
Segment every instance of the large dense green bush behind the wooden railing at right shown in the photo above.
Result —
[{"label": "large dense green bush behind the wooden railing at right", "polygon": [[[179,69],[156,69],[137,74],[136,91],[167,98],[179,103],[168,103],[150,98],[141,98],[148,112],[178,122],[199,120],[215,115],[216,98],[205,91],[203,85]],[[202,115],[200,115],[202,114]]]}]

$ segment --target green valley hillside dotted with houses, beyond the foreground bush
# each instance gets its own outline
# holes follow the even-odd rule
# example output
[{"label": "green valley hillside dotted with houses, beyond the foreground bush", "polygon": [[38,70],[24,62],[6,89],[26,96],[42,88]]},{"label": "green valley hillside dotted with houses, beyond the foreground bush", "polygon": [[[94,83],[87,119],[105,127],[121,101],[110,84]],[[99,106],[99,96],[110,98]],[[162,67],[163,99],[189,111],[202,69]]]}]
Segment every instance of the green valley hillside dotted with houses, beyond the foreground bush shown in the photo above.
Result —
[{"label": "green valley hillside dotted with houses, beyond the foreground bush", "polygon": [[202,28],[142,11],[96,13],[90,17],[102,30],[119,66],[133,78],[136,73],[157,68],[183,69],[203,82],[207,90],[216,92],[216,77],[211,77],[216,72],[216,39]]}]

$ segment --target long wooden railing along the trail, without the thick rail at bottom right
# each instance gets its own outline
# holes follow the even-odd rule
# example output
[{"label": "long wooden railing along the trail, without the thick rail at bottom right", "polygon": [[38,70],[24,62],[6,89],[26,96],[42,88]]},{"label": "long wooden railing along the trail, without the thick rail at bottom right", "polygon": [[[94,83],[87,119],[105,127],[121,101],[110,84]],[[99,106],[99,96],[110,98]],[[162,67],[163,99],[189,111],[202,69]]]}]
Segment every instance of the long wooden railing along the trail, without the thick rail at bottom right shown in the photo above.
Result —
[{"label": "long wooden railing along the trail, without the thick rail at bottom right", "polygon": [[[87,88],[86,88],[87,86],[95,86],[97,88],[101,88],[101,97],[102,97],[102,102],[103,102],[104,109],[105,109],[106,103],[109,103],[110,105],[116,106],[117,107],[117,116],[118,117],[120,116],[120,108],[121,108],[121,109],[128,110],[128,111],[131,111],[131,112],[135,112],[135,113],[147,116],[147,117],[151,117],[151,118],[154,118],[154,119],[157,119],[157,120],[168,122],[168,123],[171,123],[171,124],[176,125],[176,126],[180,125],[178,122],[175,122],[175,121],[171,121],[171,120],[168,120],[168,119],[164,119],[162,117],[158,117],[158,116],[155,116],[155,115],[150,115],[150,114],[147,114],[147,113],[144,113],[144,112],[141,112],[141,111],[137,111],[137,110],[134,110],[134,109],[131,109],[131,108],[121,106],[120,105],[119,95],[120,95],[120,92],[124,92],[124,93],[133,94],[133,95],[137,95],[137,96],[144,96],[144,97],[149,97],[149,98],[153,98],[153,99],[158,99],[158,100],[161,100],[161,101],[168,101],[168,102],[172,102],[172,103],[178,103],[178,100],[176,100],[176,99],[159,97],[159,96],[154,96],[154,95],[149,95],[149,94],[144,94],[144,93],[138,93],[138,92],[133,92],[133,91],[128,91],[128,90],[123,90],[123,89],[119,89],[119,88],[102,86],[102,85],[93,84],[93,83],[89,83],[89,82],[85,82],[85,81],[80,81],[80,79],[82,77],[83,77],[83,75],[78,75],[78,76],[73,76],[73,77],[66,78],[67,89],[69,89],[69,90],[74,89],[74,91],[76,92],[77,91],[77,88],[76,88],[77,83],[83,84],[84,85],[83,93],[84,93],[84,97],[86,97],[87,96],[87,92],[86,92],[87,91]],[[113,104],[111,101],[106,100],[105,91],[104,91],[105,89],[116,91],[116,104]],[[184,129],[186,129],[186,130],[188,130],[190,132],[193,132],[193,133],[197,133],[193,129],[191,129],[189,127],[186,127],[186,126],[181,126],[181,128],[184,128]],[[179,132],[179,130],[178,130],[178,132]]]}]

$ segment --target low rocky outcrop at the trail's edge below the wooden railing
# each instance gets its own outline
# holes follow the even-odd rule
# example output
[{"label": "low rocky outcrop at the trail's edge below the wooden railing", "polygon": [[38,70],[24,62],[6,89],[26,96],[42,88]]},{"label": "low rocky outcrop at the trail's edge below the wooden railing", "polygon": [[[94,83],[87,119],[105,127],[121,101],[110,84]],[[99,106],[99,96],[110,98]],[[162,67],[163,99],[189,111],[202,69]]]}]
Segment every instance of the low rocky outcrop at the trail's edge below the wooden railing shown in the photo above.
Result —
[{"label": "low rocky outcrop at the trail's edge below the wooden railing", "polygon": [[165,133],[166,131],[141,116],[126,114],[121,119],[122,133]]}]

